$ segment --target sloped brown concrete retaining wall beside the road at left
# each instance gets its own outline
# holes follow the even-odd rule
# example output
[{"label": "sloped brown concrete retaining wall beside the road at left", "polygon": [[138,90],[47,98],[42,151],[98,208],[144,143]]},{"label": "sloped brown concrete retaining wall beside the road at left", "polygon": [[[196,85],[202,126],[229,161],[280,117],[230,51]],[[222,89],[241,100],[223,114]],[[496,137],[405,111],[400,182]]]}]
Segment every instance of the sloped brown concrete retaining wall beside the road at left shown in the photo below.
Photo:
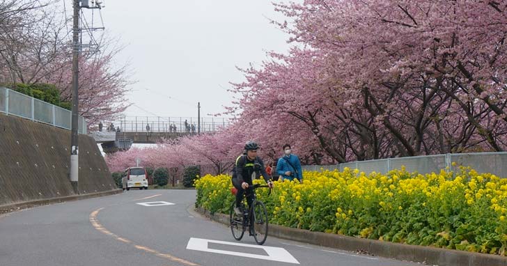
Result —
[{"label": "sloped brown concrete retaining wall beside the road at left", "polygon": [[[0,205],[75,196],[70,131],[0,114]],[[79,134],[79,194],[116,189],[95,141]]]}]

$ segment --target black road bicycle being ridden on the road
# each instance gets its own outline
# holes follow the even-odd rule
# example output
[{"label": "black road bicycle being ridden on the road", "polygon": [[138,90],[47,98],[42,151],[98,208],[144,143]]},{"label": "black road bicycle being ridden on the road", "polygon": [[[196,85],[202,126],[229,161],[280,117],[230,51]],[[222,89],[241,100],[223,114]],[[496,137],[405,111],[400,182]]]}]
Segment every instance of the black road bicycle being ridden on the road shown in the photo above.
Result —
[{"label": "black road bicycle being ridden on the road", "polygon": [[[267,185],[253,185],[253,201],[249,209],[245,208],[244,201],[241,201],[240,210],[243,212],[242,215],[236,214],[234,211],[235,201],[231,205],[231,210],[229,212],[229,221],[231,222],[231,231],[233,233],[233,237],[235,240],[241,240],[244,231],[249,229],[249,235],[253,235],[253,238],[256,240],[257,244],[264,244],[267,238],[267,228],[268,228],[268,217],[266,206],[262,201],[257,201],[257,196],[255,193],[255,189],[259,187],[269,187]],[[271,194],[271,189],[268,195]],[[247,194],[244,195],[245,198]],[[253,219],[251,219],[253,217]]]}]

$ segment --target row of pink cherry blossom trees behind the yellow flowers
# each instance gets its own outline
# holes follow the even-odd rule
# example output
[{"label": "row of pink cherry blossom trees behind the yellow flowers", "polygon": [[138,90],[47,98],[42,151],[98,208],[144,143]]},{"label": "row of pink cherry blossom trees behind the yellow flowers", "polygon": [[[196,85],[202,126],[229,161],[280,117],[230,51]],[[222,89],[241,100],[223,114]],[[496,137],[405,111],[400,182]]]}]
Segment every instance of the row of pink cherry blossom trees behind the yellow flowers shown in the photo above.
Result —
[{"label": "row of pink cherry blossom trees behind the yellow flowers", "polygon": [[167,153],[167,164],[212,164],[220,173],[247,140],[273,161],[290,143],[304,164],[506,149],[507,3],[275,8],[292,21],[275,23],[294,47],[242,69],[246,80],[233,83],[226,112],[235,123],[167,144],[187,152],[185,162]]}]

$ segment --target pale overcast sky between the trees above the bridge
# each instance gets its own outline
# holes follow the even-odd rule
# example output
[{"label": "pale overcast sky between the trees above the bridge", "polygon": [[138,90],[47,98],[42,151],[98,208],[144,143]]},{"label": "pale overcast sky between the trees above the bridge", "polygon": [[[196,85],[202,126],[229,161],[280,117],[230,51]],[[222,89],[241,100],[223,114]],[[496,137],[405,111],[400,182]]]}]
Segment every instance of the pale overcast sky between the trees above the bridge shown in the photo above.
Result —
[{"label": "pale overcast sky between the trees above the bridge", "polygon": [[286,52],[288,35],[271,1],[104,1],[106,33],[126,45],[117,58],[130,62],[136,84],[127,116],[201,116],[231,105],[229,81],[244,80],[235,66],[259,66],[265,52]]}]

